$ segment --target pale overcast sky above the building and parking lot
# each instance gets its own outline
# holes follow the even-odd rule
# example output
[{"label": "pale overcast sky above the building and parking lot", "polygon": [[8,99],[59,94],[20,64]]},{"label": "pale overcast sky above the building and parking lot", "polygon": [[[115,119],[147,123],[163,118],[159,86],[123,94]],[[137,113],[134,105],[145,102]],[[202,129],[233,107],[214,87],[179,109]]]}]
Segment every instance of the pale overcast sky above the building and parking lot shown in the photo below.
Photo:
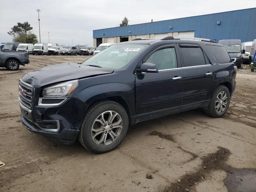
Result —
[{"label": "pale overcast sky above the building and parking lot", "polygon": [[12,42],[7,32],[26,22],[41,42],[93,46],[92,30],[119,26],[124,16],[139,24],[256,7],[256,0],[0,0],[0,42]]}]

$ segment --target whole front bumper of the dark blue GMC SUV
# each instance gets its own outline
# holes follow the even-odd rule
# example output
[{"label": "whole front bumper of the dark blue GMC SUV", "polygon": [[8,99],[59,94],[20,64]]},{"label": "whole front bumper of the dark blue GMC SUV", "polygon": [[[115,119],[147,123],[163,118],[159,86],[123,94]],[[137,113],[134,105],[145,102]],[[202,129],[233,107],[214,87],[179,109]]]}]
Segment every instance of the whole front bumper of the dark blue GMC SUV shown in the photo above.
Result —
[{"label": "whole front bumper of the dark blue GMC SUV", "polygon": [[78,136],[86,105],[77,98],[67,98],[57,106],[34,104],[32,110],[20,102],[20,110],[22,125],[27,130],[62,144],[72,144]]}]

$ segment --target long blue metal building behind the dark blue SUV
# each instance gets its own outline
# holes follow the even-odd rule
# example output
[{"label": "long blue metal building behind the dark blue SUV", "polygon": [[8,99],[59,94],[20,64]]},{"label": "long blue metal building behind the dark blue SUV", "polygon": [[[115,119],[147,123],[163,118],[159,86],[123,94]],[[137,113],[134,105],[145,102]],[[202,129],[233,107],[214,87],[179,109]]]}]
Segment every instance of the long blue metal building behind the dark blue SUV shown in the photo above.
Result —
[{"label": "long blue metal building behind the dark blue SUV", "polygon": [[256,38],[256,8],[93,30],[94,46],[163,36],[252,41]]}]

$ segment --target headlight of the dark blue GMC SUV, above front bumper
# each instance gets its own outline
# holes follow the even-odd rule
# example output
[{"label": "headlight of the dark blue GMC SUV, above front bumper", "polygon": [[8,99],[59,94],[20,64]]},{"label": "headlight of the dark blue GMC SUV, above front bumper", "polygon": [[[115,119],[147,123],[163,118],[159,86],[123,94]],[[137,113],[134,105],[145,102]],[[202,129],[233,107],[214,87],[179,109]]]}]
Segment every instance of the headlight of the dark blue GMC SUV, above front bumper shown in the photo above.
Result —
[{"label": "headlight of the dark blue GMC SUV, above front bumper", "polygon": [[65,97],[70,95],[78,86],[78,80],[67,81],[43,89],[43,97]]}]

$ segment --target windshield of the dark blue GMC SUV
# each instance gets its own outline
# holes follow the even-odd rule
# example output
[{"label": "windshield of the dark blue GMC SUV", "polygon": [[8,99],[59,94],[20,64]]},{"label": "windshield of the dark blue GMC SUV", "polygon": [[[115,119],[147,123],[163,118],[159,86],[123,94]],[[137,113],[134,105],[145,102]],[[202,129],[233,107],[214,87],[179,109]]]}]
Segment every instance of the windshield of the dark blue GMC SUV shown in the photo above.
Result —
[{"label": "windshield of the dark blue GMC SUV", "polygon": [[102,68],[120,69],[130,62],[148,45],[118,44],[89,58],[82,65],[96,65]]}]

